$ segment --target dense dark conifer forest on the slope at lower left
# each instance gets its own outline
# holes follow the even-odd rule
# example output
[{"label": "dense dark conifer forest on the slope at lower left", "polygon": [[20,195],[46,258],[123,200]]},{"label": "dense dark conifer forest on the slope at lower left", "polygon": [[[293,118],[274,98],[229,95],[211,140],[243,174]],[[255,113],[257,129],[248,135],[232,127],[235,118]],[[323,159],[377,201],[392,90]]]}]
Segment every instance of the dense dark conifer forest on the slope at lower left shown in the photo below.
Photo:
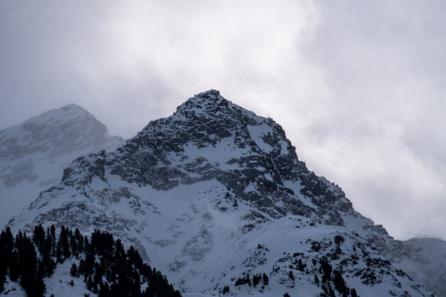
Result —
[{"label": "dense dark conifer forest on the slope at lower left", "polygon": [[[0,292],[7,277],[19,283],[29,297],[46,296],[45,278],[58,264],[72,261],[69,273],[83,278],[86,288],[100,297],[180,297],[167,278],[142,261],[133,246],[125,250],[120,239],[95,230],[90,237],[76,229],[35,226],[30,235],[9,228],[0,234]],[[57,296],[55,296],[57,297]]]}]

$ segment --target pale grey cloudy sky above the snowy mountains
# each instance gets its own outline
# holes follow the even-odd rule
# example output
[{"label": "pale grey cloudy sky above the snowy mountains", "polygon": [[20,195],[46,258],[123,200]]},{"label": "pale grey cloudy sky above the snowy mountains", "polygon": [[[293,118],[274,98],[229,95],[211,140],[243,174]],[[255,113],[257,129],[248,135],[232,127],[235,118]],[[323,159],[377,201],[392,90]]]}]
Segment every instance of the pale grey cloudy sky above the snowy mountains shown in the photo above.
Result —
[{"label": "pale grey cloudy sky above the snowy mountains", "polygon": [[76,103],[132,137],[217,89],[397,239],[446,239],[446,4],[0,0],[0,130]]}]

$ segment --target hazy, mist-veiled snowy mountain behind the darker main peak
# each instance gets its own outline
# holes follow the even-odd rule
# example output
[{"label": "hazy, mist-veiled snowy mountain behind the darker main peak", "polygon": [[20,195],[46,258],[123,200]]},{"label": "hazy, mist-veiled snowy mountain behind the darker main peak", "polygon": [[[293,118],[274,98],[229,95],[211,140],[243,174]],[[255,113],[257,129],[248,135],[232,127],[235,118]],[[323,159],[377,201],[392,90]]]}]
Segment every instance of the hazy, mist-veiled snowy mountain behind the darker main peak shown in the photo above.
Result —
[{"label": "hazy, mist-veiled snowy mountain behind the darker main peak", "polygon": [[123,145],[78,105],[50,110],[0,131],[0,226],[58,184],[76,157]]}]

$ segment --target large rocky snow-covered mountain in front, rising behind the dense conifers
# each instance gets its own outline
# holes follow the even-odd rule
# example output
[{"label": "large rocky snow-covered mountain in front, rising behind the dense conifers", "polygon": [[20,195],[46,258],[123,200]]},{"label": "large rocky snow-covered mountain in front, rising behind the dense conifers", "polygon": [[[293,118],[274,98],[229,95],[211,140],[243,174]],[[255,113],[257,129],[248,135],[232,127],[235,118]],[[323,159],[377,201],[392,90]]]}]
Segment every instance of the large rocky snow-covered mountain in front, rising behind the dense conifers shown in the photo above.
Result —
[{"label": "large rocky snow-covered mountain in front, rising behind the dense conifers", "polygon": [[408,247],[217,90],[63,170],[8,226],[108,231],[185,296],[431,296]]}]

